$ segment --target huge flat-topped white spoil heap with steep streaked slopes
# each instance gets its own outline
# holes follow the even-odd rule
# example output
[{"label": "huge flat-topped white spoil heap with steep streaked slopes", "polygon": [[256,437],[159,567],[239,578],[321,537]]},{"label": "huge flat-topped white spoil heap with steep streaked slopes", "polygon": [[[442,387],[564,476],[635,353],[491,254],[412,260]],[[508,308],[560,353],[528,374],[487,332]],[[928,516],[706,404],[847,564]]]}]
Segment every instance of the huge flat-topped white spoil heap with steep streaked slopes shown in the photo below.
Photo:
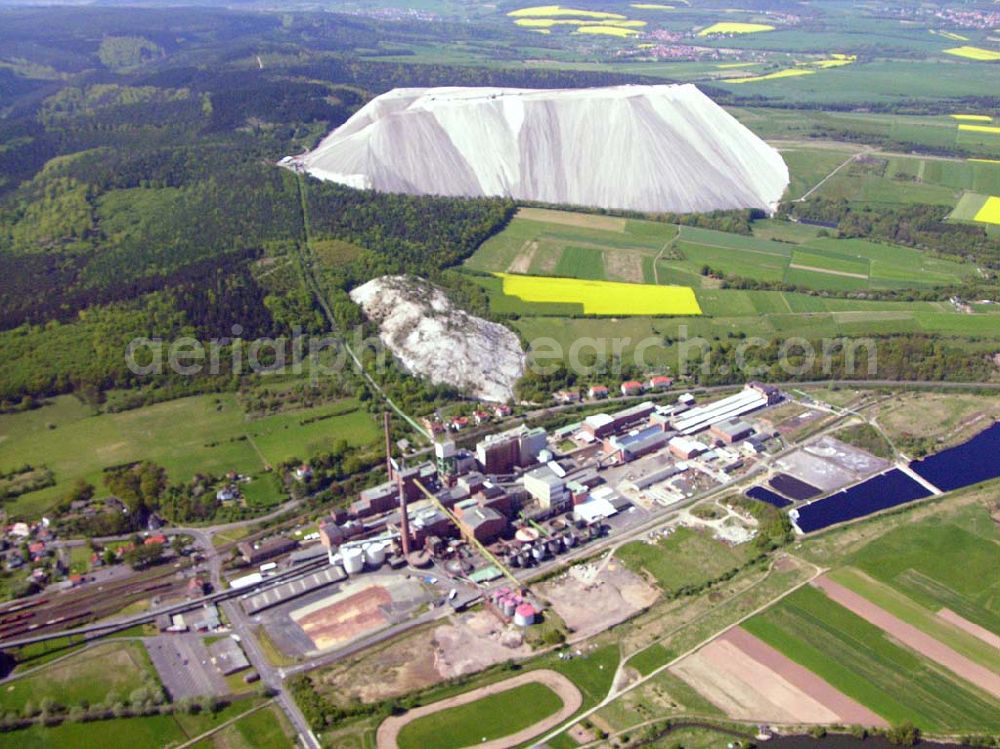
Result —
[{"label": "huge flat-topped white spoil heap with steep streaked slopes", "polygon": [[639,211],[773,210],[781,155],[694,85],[395,89],[292,160],[384,192]]}]

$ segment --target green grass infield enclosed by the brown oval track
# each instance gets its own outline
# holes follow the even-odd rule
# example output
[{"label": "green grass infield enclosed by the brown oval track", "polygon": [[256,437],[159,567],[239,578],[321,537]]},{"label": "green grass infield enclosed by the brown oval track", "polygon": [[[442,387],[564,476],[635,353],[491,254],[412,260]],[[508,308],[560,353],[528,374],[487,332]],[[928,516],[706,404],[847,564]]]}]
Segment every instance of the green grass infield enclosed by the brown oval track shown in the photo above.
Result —
[{"label": "green grass infield enclosed by the brown oval track", "polygon": [[407,723],[400,749],[461,749],[508,736],[562,709],[562,700],[544,684],[528,683],[475,702]]}]

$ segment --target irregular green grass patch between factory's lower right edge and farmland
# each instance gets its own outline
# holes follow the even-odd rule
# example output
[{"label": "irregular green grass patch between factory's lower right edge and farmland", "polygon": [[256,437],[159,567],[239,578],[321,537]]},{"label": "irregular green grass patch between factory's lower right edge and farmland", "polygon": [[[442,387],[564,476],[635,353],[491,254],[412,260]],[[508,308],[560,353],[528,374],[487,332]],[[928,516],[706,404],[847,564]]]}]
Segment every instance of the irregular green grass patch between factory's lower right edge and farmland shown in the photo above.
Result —
[{"label": "irregular green grass patch between factory's lower right edge and farmland", "polygon": [[742,566],[748,553],[745,544],[728,546],[707,533],[684,527],[656,543],[632,541],[616,552],[625,566],[652,577],[666,593],[714,580]]}]

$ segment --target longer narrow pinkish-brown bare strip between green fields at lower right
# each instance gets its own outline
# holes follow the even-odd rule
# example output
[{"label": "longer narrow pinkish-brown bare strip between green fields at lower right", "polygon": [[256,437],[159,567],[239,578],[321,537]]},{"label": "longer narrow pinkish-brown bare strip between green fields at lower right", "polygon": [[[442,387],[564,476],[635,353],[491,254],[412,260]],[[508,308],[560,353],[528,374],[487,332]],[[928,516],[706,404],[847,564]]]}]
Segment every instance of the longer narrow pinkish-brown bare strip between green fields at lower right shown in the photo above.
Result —
[{"label": "longer narrow pinkish-brown bare strip between green fields at lower right", "polygon": [[944,666],[952,673],[975,684],[994,697],[1000,697],[1000,674],[996,674],[985,666],[956,653],[944,643],[935,640],[930,635],[921,632],[913,625],[907,624],[902,619],[876,606],[867,598],[835,583],[828,577],[814,580],[813,585],[844,608],[874,624],[911,650],[915,650],[925,658]]}]

